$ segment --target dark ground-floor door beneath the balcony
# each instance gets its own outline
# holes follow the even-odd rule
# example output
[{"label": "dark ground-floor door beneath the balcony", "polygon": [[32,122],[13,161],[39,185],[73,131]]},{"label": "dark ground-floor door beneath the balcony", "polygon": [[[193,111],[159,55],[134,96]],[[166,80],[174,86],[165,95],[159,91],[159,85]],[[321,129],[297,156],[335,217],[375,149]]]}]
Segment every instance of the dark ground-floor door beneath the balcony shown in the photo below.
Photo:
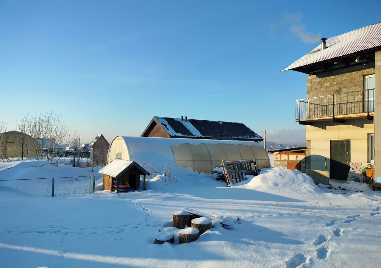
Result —
[{"label": "dark ground-floor door beneath the balcony", "polygon": [[331,141],[331,180],[347,180],[351,162],[351,141]]}]

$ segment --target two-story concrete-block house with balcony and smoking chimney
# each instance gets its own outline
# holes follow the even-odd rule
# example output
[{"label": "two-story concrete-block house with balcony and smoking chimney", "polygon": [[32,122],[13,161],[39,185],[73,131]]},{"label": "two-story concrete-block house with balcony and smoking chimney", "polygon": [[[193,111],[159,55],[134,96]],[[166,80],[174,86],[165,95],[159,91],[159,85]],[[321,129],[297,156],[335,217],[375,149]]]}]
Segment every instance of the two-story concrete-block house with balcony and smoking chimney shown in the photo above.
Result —
[{"label": "two-story concrete-block house with balcony and smoking chimney", "polygon": [[[296,100],[306,125],[306,169],[347,180],[350,162],[375,165],[381,147],[381,22],[329,39],[285,68],[308,74],[307,98]],[[379,99],[377,99],[379,98]],[[381,117],[380,117],[381,118]],[[379,146],[377,146],[380,144]],[[375,179],[376,181],[376,179]]]}]

